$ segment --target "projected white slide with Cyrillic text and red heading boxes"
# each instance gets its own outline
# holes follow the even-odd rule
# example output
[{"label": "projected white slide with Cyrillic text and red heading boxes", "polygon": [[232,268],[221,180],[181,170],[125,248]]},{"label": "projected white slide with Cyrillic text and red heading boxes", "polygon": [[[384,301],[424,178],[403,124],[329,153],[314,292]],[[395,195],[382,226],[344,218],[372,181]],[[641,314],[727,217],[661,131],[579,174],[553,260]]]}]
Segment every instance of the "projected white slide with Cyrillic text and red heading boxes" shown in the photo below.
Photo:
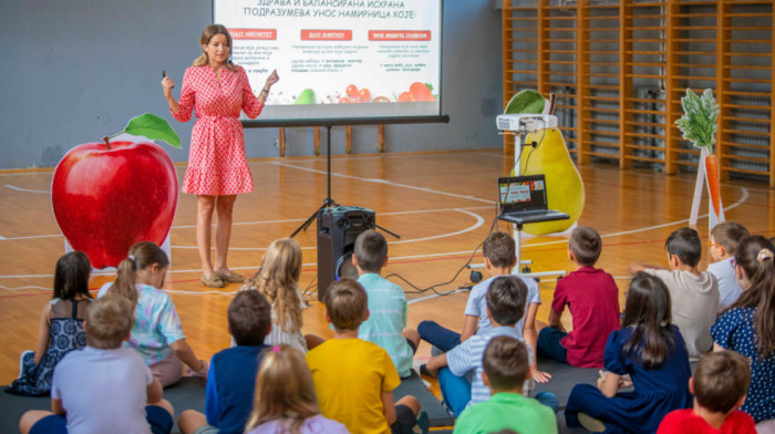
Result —
[{"label": "projected white slide with Cyrillic text and red heading boxes", "polygon": [[215,0],[262,120],[440,115],[441,0]]}]

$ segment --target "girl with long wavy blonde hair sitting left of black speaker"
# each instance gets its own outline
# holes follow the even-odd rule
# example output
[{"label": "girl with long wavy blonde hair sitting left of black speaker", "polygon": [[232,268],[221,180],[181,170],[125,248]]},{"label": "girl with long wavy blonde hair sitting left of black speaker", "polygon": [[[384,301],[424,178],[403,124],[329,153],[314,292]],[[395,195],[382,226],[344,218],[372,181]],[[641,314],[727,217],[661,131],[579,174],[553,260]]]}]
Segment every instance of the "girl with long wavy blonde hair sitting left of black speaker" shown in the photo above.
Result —
[{"label": "girl with long wavy blonde hair sitting left of black speaker", "polygon": [[258,271],[240,290],[256,290],[271,304],[272,329],[265,344],[287,343],[306,353],[308,341],[301,334],[301,310],[307,304],[299,288],[300,276],[301,247],[291,238],[282,238],[269,245]]}]

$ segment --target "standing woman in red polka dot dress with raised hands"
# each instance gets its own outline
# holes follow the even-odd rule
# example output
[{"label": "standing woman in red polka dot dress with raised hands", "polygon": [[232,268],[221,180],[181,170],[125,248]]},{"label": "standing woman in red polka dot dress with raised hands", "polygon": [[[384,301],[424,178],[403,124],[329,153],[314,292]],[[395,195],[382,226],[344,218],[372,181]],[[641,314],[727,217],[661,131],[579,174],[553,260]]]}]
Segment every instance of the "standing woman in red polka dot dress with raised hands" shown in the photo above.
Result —
[{"label": "standing woman in red polka dot dress with raised hands", "polygon": [[[183,76],[180,101],[175,101],[175,83],[162,80],[164,96],[173,116],[180,122],[197,121],[192,131],[188,168],[183,193],[197,195],[196,242],[202,259],[202,282],[221,288],[225,281],[241,282],[242,277],[229,270],[226,256],[231,236],[231,214],[237,195],[252,190],[252,176],[245,161],[245,137],[239,112],[255,118],[261,113],[272,84],[280,80],[272,71],[258,97],[254,95],[241,66],[229,63],[231,35],[220,24],[205,28],[200,38],[204,53]],[[215,264],[210,262],[210,227],[215,227]]]}]

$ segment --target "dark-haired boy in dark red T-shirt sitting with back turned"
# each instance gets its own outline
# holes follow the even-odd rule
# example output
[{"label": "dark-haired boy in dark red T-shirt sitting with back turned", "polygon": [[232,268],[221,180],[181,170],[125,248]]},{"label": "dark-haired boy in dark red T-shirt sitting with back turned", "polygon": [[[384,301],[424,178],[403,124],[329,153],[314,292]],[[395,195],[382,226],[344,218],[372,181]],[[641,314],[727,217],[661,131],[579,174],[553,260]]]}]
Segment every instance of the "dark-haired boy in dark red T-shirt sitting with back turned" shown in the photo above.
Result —
[{"label": "dark-haired boy in dark red T-shirt sitting with back turned", "polygon": [[[602,240],[589,227],[570,234],[568,258],[575,271],[557,281],[549,311],[549,324],[538,323],[538,356],[577,368],[602,368],[606,340],[619,330],[619,289],[613,277],[595,268]],[[574,330],[566,332],[560,317],[568,306]]]}]

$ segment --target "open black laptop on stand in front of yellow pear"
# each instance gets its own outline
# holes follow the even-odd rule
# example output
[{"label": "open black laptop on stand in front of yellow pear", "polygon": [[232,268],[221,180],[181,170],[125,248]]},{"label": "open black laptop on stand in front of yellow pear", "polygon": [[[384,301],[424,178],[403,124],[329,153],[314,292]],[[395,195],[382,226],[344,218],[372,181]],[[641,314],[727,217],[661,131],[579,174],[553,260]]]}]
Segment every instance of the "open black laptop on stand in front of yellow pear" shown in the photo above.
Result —
[{"label": "open black laptop on stand in front of yellow pear", "polygon": [[517,225],[567,220],[565,213],[549,209],[546,200],[546,176],[509,176],[498,178],[499,220]]}]

